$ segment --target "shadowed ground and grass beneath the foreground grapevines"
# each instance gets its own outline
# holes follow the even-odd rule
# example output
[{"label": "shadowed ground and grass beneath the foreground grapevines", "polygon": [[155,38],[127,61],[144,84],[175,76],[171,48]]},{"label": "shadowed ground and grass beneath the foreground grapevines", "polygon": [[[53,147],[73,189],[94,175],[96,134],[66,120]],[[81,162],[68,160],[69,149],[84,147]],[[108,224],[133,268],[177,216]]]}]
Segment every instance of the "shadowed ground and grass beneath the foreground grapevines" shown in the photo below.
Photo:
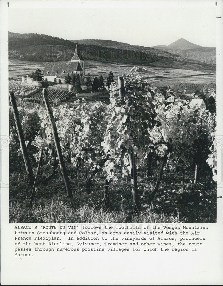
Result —
[{"label": "shadowed ground and grass beneath the foreground grapevines", "polygon": [[[90,194],[86,192],[84,174],[77,174],[67,164],[73,199],[66,196],[60,172],[47,185],[41,182],[52,171],[42,166],[37,180],[37,192],[30,205],[31,187],[21,156],[15,156],[9,165],[9,222],[10,223],[215,223],[216,184],[210,177],[210,169],[202,169],[197,184],[193,170],[185,173],[164,172],[163,180],[152,204],[148,196],[152,191],[158,170],[146,178],[138,174],[141,211],[133,215],[131,183],[120,178],[109,185],[110,208],[103,208],[103,181],[95,176]],[[155,168],[155,167],[154,167]],[[33,170],[34,174],[36,168]]]}]

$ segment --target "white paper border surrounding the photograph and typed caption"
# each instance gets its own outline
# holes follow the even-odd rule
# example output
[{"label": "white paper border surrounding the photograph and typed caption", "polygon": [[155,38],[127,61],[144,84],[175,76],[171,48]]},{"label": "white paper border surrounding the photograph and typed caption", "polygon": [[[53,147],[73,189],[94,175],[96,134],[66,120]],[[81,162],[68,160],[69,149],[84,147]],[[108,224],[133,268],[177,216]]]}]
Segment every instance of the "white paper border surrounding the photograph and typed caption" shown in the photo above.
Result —
[{"label": "white paper border surrounding the photograph and typed caption", "polygon": [[[9,1],[10,8],[76,7],[212,7],[215,1]],[[217,1],[216,17],[222,17],[223,2]],[[19,10],[18,10],[19,13]],[[189,17],[189,15],[188,15]],[[8,7],[1,1],[1,136],[8,134]],[[222,18],[217,29],[217,126],[223,134],[222,114]],[[222,196],[222,150],[218,148],[218,189]],[[1,150],[1,285],[217,285],[222,284],[222,198],[217,200],[217,223],[208,225],[207,247],[202,252],[168,255],[166,253],[79,253],[52,257],[36,255],[30,260],[15,259],[13,224],[9,225],[8,146]],[[4,184],[3,184],[3,183]],[[189,224],[188,224],[189,225]],[[194,224],[190,224],[194,225]],[[202,224],[203,225],[203,224]]]}]

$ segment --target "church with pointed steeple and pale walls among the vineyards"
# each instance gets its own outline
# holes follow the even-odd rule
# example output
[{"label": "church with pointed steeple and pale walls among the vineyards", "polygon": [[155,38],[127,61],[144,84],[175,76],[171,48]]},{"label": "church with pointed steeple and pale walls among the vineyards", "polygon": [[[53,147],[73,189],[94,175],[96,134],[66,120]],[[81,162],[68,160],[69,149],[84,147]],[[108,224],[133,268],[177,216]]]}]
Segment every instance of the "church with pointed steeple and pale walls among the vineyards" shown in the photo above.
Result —
[{"label": "church with pointed steeple and pale walls among the vineyards", "polygon": [[80,84],[84,84],[84,60],[81,56],[78,43],[70,61],[46,62],[43,70],[43,79],[45,81],[64,84],[68,73],[72,78],[72,84],[74,84],[76,78],[79,79]]}]

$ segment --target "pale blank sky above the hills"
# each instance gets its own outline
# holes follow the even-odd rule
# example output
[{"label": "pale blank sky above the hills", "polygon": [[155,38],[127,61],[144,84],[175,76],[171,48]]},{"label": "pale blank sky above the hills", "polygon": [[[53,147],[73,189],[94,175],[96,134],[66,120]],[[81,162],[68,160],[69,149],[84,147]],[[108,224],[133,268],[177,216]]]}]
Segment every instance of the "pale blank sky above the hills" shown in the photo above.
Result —
[{"label": "pale blank sky above the hills", "polygon": [[[190,2],[193,6],[179,5],[179,2],[175,1],[176,5],[158,7],[150,5],[155,1],[149,0],[138,0],[138,5],[132,7],[128,5],[128,1],[120,1],[125,4],[120,7],[110,4],[116,3],[113,1],[109,2],[108,7],[98,7],[96,4],[82,7],[76,5],[79,1],[69,1],[69,7],[52,8],[57,7],[56,3],[59,3],[54,1],[55,5],[44,9],[39,8],[42,6],[40,4],[33,9],[27,8],[31,5],[23,6],[21,1],[19,9],[14,9],[13,5],[9,7],[9,31],[46,34],[69,40],[106,39],[143,46],[169,45],[184,38],[197,45],[214,47],[215,4],[208,1],[208,5],[200,5],[201,2],[196,1],[198,0]],[[159,0],[157,2],[162,3]]]}]

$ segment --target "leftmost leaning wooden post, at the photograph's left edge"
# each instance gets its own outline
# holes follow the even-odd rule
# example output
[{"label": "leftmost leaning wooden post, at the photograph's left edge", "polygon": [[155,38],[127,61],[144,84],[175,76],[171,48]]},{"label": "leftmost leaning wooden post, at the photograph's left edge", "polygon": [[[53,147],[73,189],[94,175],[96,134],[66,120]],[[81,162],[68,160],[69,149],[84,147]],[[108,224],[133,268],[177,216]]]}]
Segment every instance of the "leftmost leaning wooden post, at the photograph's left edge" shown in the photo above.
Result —
[{"label": "leftmost leaning wooden post, at the photograph's left edge", "polygon": [[20,146],[22,149],[22,153],[23,153],[25,168],[26,168],[26,172],[28,175],[28,179],[29,179],[29,184],[32,186],[33,182],[34,182],[33,171],[31,168],[28,152],[27,152],[26,145],[25,145],[22,125],[21,125],[21,122],[19,119],[19,112],[18,112],[18,108],[16,105],[14,93],[12,91],[9,91],[9,96],[10,96],[10,100],[11,100],[11,105],[12,105],[13,115],[14,115],[14,119],[15,119],[16,129],[17,129],[18,136],[19,136],[19,142],[20,142]]}]

